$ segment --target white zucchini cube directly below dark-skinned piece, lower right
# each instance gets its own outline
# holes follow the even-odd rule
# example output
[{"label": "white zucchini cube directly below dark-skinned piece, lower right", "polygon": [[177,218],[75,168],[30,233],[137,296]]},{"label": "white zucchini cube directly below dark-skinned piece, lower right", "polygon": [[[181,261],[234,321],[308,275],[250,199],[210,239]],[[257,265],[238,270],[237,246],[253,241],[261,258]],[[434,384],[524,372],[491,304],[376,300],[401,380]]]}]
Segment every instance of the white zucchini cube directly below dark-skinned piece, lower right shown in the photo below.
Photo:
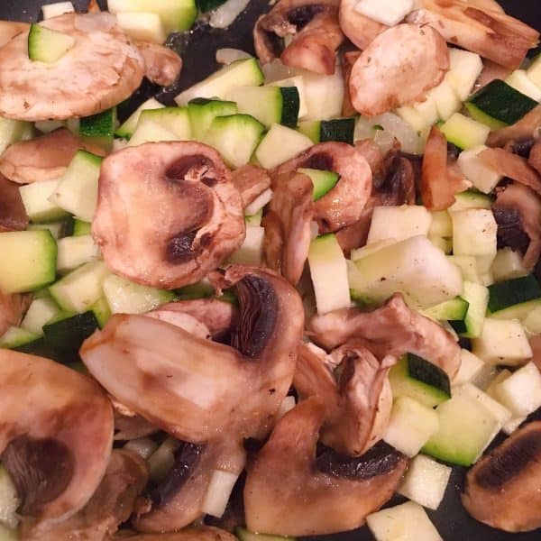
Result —
[{"label": "white zucchini cube directly below dark-skinned piece, lower right", "polygon": [[396,399],[383,440],[400,453],[415,456],[439,430],[436,411],[408,397]]}]

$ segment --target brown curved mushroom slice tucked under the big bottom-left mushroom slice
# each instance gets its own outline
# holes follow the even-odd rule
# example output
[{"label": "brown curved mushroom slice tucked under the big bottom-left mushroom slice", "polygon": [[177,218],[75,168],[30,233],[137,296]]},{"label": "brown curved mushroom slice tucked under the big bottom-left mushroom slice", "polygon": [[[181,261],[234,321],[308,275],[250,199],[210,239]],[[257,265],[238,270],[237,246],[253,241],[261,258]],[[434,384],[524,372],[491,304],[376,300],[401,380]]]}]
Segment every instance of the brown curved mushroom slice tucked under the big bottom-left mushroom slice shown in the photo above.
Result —
[{"label": "brown curved mushroom slice tucked under the big bottom-left mushroom slice", "polygon": [[115,449],[105,475],[87,505],[62,522],[24,521],[21,538],[25,541],[58,541],[59,539],[109,539],[125,522],[149,477],[147,463],[137,454]]}]

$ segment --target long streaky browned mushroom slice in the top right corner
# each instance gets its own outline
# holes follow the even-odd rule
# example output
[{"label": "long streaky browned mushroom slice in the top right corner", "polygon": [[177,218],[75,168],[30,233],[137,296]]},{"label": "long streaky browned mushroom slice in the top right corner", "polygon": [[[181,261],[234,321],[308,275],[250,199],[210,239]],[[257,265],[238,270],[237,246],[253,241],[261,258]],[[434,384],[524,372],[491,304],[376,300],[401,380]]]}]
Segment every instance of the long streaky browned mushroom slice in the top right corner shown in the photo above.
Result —
[{"label": "long streaky browned mushroom slice in the top right corner", "polygon": [[509,69],[520,67],[539,32],[502,12],[463,0],[422,0],[408,21],[430,24],[445,40]]}]

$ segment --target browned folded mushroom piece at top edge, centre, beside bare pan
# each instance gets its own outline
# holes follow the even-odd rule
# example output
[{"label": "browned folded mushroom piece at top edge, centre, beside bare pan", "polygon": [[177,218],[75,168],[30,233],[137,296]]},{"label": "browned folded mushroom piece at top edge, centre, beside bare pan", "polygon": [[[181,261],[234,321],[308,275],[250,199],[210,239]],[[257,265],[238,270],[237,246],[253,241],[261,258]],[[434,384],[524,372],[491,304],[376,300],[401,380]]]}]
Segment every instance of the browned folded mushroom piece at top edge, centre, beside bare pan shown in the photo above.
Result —
[{"label": "browned folded mushroom piece at top edge, centre, beside bare pan", "polygon": [[[291,36],[283,50],[280,39]],[[253,29],[261,63],[280,57],[286,66],[316,73],[335,73],[335,51],[344,41],[336,0],[280,0],[261,15]]]}]

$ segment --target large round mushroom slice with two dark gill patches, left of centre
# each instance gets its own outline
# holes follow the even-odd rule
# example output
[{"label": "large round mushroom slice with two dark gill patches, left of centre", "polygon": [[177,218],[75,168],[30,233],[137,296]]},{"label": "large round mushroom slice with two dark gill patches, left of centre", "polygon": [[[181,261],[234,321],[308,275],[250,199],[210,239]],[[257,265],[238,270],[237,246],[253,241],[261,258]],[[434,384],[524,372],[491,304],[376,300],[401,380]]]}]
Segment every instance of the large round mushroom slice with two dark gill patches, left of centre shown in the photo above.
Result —
[{"label": "large round mushroom slice with two dark gill patches, left of centre", "polygon": [[109,267],[175,289],[201,280],[244,239],[241,197],[199,142],[147,142],[105,158],[92,234]]}]

